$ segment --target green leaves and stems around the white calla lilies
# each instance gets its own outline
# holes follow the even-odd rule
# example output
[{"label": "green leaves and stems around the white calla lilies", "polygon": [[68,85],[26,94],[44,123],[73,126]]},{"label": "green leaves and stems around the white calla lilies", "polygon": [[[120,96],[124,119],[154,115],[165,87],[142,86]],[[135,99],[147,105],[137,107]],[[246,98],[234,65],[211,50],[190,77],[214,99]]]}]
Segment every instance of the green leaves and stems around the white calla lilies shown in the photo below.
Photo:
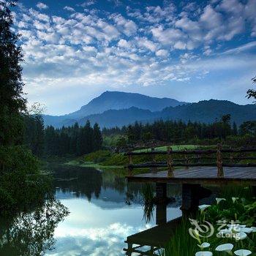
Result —
[{"label": "green leaves and stems around the white calla lilies", "polygon": [[[231,195],[233,198],[231,198]],[[241,197],[236,197],[238,195],[241,195]],[[181,224],[176,228],[175,233],[173,233],[172,238],[166,244],[165,251],[162,252],[162,255],[195,255],[195,252],[203,250],[197,246],[197,244],[200,245],[203,244],[203,242],[208,242],[210,244],[210,246],[207,249],[204,249],[204,251],[211,251],[214,256],[225,255],[225,252],[218,254],[218,252],[215,251],[215,248],[220,244],[226,243],[233,244],[233,250],[249,249],[253,252],[252,255],[255,255],[255,233],[247,233],[247,237],[244,240],[238,241],[234,237],[217,236],[220,229],[228,229],[227,225],[233,222],[235,225],[238,223],[239,225],[247,225],[248,227],[255,225],[256,205],[255,200],[252,200],[252,192],[250,191],[250,188],[244,187],[239,189],[237,187],[233,187],[230,189],[230,187],[226,187],[220,196],[227,197],[219,203],[212,204],[201,213],[198,211],[196,216],[192,217],[192,219],[197,220],[199,227],[203,228],[202,232],[206,232],[206,225],[210,222],[211,225],[214,226],[214,234],[206,237],[197,236],[195,233],[195,238],[192,238],[192,236],[189,235],[189,228],[193,229],[195,226],[192,224],[192,219],[184,217]],[[205,226],[203,227],[203,225]],[[233,235],[236,235],[239,233],[239,230],[233,232]],[[204,233],[201,233],[200,235],[204,235]],[[230,253],[230,255],[232,254]]]}]

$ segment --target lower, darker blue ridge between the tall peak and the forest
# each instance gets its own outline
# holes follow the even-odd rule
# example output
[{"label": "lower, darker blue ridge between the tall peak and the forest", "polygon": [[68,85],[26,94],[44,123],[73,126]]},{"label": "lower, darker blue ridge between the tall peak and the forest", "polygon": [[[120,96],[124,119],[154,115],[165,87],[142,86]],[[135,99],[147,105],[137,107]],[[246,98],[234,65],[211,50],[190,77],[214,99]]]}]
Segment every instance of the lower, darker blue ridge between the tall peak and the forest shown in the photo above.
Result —
[{"label": "lower, darker blue ridge between the tall peak and the forest", "polygon": [[[83,125],[87,119],[92,124],[97,122],[100,127],[121,127],[125,124],[132,124],[135,121],[146,123],[158,119],[211,123],[225,114],[230,114],[231,121],[236,121],[236,124],[239,125],[244,121],[256,120],[256,105],[238,105],[227,100],[210,99],[187,105],[168,107],[156,112],[135,107],[124,110],[107,110],[104,113],[80,118],[78,123]],[[69,120],[66,125],[74,123],[75,120]]]}]

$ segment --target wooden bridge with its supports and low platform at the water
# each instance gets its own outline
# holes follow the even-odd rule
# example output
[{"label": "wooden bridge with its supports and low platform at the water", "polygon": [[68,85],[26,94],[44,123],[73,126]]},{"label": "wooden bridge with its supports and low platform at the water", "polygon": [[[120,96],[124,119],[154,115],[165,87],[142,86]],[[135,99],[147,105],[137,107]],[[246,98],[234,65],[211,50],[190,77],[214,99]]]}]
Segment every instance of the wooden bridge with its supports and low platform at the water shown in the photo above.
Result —
[{"label": "wooden bridge with its supports and low platform at the water", "polygon": [[[157,197],[167,197],[167,184],[181,184],[183,215],[191,214],[201,199],[211,195],[204,185],[249,185],[256,195],[256,148],[222,148],[209,150],[182,150],[128,152],[128,182],[155,183]],[[160,157],[157,158],[157,155]],[[150,159],[137,163],[138,156]],[[157,161],[159,160],[159,161]],[[149,169],[149,172],[133,174],[135,169]],[[252,195],[253,196],[253,195]],[[170,239],[181,218],[166,222],[166,205],[157,204],[157,226],[127,237],[127,255],[158,255],[159,248]],[[142,250],[148,246],[148,250]]]}]

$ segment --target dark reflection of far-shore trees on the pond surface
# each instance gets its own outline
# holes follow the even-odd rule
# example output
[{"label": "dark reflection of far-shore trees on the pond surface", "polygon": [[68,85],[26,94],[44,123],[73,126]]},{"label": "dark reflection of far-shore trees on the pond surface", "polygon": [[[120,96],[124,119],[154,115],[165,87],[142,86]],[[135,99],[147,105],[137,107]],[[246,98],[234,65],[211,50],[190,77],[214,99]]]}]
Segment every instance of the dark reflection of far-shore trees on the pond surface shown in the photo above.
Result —
[{"label": "dark reflection of far-shore trees on the pond surface", "polygon": [[[127,203],[141,203],[143,200],[143,184],[127,184],[125,176],[127,170],[113,169],[103,170],[102,172],[94,168],[59,165],[54,168],[55,187],[59,187],[61,192],[75,192],[77,197],[86,196],[99,197],[101,189],[113,189],[121,195],[126,196]],[[180,188],[172,184],[168,189],[171,196],[177,195]]]}]

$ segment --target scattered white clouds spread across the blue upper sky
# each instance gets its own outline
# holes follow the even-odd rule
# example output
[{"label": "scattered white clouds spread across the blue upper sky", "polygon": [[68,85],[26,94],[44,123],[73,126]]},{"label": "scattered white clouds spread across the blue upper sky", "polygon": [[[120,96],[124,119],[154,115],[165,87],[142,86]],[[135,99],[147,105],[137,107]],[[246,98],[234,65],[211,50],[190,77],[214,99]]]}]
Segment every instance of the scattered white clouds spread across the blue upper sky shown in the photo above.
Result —
[{"label": "scattered white clouds spread across the blue upper sky", "polygon": [[128,91],[129,86],[197,83],[219,67],[232,73],[255,63],[253,0],[118,7],[127,14],[96,9],[94,1],[83,4],[86,10],[79,5],[80,12],[64,5],[71,13],[22,5],[15,12],[30,95],[47,95],[53,87]]}]

